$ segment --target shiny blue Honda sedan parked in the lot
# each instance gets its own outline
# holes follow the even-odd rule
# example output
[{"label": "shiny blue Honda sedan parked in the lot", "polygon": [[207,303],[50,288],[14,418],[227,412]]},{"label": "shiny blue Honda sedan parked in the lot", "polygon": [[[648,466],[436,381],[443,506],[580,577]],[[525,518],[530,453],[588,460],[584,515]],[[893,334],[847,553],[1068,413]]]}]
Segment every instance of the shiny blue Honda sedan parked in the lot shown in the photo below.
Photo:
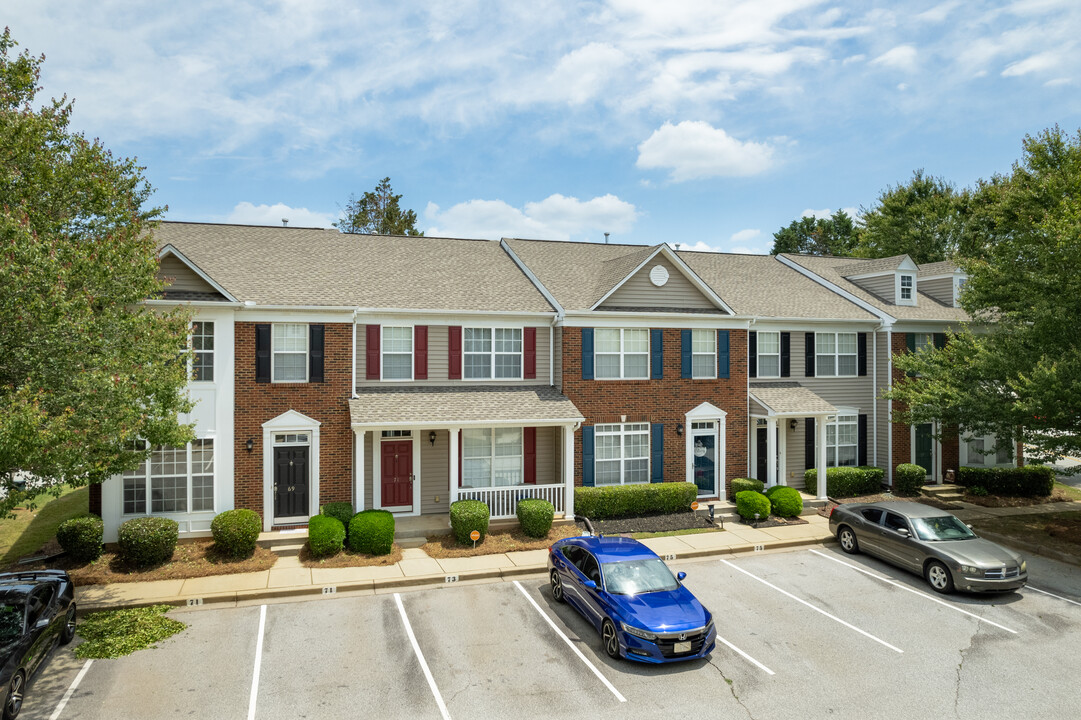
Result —
[{"label": "shiny blue Honda sedan parked in the lot", "polygon": [[601,635],[610,657],[671,663],[713,651],[713,616],[653,550],[629,537],[568,537],[548,548],[551,594]]}]

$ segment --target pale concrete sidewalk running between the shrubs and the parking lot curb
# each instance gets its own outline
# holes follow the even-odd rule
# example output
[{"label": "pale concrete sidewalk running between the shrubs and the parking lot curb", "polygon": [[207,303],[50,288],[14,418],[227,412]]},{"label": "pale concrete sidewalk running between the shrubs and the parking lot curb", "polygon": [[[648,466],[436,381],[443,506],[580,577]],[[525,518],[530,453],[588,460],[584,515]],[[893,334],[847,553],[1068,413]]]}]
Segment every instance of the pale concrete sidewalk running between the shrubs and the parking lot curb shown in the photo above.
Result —
[{"label": "pale concrete sidewalk running between the shrubs and the parking lot curb", "polygon": [[[808,524],[755,529],[728,522],[724,530],[642,541],[667,560],[755,552],[832,539],[828,520],[805,515]],[[328,595],[371,595],[403,587],[499,582],[547,572],[548,550],[524,550],[436,560],[424,550],[402,550],[401,562],[371,568],[305,568],[281,557],[270,570],[150,583],[88,585],[76,589],[79,613],[151,604],[241,606],[315,599]]]}]

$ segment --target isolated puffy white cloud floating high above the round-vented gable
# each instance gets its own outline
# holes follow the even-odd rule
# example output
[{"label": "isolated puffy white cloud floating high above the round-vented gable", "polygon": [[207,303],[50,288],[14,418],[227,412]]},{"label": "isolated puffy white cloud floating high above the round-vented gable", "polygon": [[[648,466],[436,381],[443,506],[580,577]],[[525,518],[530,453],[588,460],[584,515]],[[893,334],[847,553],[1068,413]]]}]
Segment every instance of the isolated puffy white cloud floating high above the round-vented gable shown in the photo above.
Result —
[{"label": "isolated puffy white cloud floating high above the round-vented gable", "polygon": [[764,143],[740,142],[708,122],[666,122],[638,146],[643,170],[666,169],[681,183],[703,177],[742,177],[765,172],[773,164],[774,148]]}]

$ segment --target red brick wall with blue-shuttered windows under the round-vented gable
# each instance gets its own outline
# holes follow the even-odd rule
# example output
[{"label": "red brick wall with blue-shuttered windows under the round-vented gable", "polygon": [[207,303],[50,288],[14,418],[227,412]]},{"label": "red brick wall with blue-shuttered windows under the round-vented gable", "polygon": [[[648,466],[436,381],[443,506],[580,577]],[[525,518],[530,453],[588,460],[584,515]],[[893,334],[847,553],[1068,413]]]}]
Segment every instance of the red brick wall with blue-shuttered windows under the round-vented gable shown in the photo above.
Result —
[{"label": "red brick wall with blue-shuttered windows under the round-vented gable", "polygon": [[[686,480],[686,434],[676,435],[676,424],[686,424],[685,414],[703,402],[725,413],[724,484],[731,497],[731,480],[747,477],[747,333],[729,333],[729,377],[683,379],[680,377],[680,330],[665,329],[664,378],[641,381],[582,379],[582,329],[563,329],[563,395],[586,416],[586,425],[598,423],[663,423],[665,426],[665,481]],[[627,419],[623,421],[622,416]],[[582,484],[582,430],[575,432],[574,481]]]}]

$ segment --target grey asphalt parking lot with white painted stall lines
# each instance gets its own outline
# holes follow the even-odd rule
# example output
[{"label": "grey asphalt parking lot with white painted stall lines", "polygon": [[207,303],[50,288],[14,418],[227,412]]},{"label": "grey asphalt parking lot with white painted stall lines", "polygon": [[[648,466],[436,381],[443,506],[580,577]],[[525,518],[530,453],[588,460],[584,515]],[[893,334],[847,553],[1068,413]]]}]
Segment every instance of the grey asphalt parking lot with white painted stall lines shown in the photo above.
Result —
[{"label": "grey asphalt parking lot with white painted stall lines", "polygon": [[538,575],[178,612],[188,629],[157,650],[55,653],[24,717],[1076,715],[1077,568],[1037,558],[1019,592],[943,597],[837,547],[673,566],[717,616],[709,661],[611,661]]}]

